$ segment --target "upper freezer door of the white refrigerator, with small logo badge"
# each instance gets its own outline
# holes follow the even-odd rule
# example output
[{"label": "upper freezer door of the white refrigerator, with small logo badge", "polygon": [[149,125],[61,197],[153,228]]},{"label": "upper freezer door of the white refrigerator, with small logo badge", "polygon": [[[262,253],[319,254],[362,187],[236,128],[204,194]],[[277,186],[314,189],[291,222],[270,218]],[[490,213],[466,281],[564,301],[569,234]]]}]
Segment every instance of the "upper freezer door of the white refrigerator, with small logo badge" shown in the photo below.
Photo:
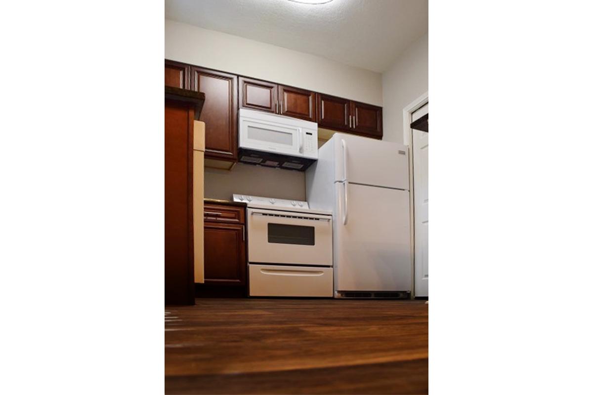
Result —
[{"label": "upper freezer door of the white refrigerator, with small logo badge", "polygon": [[409,190],[408,147],[336,133],[332,137],[336,179],[356,184]]}]

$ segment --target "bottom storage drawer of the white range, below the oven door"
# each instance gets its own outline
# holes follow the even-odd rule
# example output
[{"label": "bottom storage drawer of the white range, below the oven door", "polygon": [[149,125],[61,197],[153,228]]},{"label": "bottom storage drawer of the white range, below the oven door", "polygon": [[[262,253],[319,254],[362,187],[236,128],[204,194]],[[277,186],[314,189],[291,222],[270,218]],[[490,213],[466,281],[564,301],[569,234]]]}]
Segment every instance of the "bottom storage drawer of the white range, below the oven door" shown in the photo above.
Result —
[{"label": "bottom storage drawer of the white range, below the oven door", "polygon": [[333,269],[250,264],[249,295],[332,297]]}]

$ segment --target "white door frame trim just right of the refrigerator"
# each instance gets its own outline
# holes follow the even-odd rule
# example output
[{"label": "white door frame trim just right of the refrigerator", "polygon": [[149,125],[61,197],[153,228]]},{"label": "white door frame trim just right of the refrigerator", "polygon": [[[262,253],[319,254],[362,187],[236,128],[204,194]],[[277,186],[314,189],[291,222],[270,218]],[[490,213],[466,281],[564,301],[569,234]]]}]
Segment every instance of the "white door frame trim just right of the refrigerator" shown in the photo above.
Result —
[{"label": "white door frame trim just right of the refrigerator", "polygon": [[413,141],[412,138],[412,128],[410,124],[412,123],[412,113],[418,110],[420,107],[428,103],[428,91],[424,92],[422,95],[417,97],[414,101],[410,104],[406,105],[406,107],[402,110],[402,118],[403,118],[403,142],[404,145],[408,146],[408,169],[409,169],[409,178],[410,178],[410,256],[412,256],[412,299],[416,298],[416,261],[415,261],[415,250],[416,250],[416,243],[415,243],[415,209],[414,206],[414,149],[413,149]]}]

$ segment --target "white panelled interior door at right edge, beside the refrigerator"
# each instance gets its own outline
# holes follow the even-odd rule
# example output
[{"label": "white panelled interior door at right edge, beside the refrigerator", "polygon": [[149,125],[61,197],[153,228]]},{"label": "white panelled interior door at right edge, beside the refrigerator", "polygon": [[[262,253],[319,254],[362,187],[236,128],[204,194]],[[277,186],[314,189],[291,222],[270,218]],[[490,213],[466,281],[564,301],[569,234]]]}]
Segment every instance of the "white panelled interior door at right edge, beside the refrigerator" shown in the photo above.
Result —
[{"label": "white panelled interior door at right edge, beside the refrigerator", "polygon": [[428,132],[413,130],[415,295],[428,297]]}]

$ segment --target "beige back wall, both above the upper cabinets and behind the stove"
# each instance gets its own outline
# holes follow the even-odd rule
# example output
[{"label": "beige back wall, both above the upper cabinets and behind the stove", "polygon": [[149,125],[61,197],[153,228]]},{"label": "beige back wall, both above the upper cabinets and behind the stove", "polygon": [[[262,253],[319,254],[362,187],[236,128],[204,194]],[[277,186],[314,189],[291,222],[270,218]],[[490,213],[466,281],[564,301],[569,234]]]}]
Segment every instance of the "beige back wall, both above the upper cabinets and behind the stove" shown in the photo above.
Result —
[{"label": "beige back wall, both above the upper cabinets and behind the stove", "polygon": [[[165,20],[165,59],[381,105],[381,74],[243,37]],[[208,98],[206,98],[207,100]],[[205,169],[204,195],[233,193],[305,200],[304,172],[237,163]]]}]

